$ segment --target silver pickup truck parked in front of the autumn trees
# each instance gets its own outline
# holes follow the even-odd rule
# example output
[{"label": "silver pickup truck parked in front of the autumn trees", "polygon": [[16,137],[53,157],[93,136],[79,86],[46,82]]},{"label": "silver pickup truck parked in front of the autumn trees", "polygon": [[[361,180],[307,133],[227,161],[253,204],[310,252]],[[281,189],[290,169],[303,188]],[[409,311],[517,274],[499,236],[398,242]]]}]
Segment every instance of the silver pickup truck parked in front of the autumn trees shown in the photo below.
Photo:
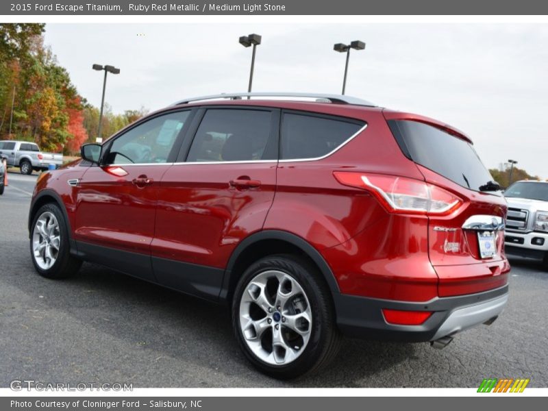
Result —
[{"label": "silver pickup truck parked in front of the autumn trees", "polygon": [[42,153],[38,145],[28,141],[0,140],[0,155],[8,158],[8,167],[19,167],[22,174],[47,170],[49,164],[63,164],[62,154]]}]

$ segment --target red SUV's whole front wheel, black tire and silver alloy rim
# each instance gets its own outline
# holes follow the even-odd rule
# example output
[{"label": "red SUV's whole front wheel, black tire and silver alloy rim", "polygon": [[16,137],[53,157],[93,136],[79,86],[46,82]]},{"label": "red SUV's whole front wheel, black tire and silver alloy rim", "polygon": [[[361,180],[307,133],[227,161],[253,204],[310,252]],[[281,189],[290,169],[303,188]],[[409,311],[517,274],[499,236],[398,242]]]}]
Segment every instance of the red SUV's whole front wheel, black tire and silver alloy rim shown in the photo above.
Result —
[{"label": "red SUV's whole front wheel, black tire and silver alloy rim", "polygon": [[43,277],[70,277],[82,265],[81,260],[71,256],[69,230],[56,204],[45,204],[34,216],[30,252],[34,268]]}]

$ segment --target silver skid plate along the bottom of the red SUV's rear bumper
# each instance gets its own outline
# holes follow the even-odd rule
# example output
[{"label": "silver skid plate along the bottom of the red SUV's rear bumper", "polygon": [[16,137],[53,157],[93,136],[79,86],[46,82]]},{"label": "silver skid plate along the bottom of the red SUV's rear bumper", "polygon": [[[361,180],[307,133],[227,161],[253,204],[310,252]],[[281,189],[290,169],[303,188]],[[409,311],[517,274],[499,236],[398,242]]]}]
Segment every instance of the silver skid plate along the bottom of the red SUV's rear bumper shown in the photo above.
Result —
[{"label": "silver skid plate along the bottom of the red SUV's rear bumper", "polygon": [[493,319],[493,317],[498,316],[502,312],[507,302],[508,294],[505,294],[501,297],[474,304],[473,306],[459,308],[451,312],[438,328],[434,337],[432,337],[432,341],[445,336],[451,336]]}]

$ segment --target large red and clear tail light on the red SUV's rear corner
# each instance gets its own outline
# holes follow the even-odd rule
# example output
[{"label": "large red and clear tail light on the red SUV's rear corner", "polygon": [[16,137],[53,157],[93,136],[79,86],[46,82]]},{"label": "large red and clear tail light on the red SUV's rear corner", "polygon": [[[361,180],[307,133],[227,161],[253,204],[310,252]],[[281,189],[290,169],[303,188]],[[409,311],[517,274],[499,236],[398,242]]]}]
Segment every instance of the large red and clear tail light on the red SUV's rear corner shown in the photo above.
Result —
[{"label": "large red and clear tail light on the red SUV's rear corner", "polygon": [[389,212],[443,216],[462,204],[451,192],[416,179],[347,171],[335,171],[334,176],[340,184],[368,190]]}]

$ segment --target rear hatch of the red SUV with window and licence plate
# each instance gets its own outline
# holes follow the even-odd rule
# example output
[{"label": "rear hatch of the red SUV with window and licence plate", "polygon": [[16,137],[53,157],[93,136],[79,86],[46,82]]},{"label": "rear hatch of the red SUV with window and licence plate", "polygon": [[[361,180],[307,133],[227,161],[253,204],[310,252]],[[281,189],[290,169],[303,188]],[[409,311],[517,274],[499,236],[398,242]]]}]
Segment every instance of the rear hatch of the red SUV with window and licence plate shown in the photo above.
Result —
[{"label": "rear hatch of the red SUV with window and licence plate", "polygon": [[462,132],[423,116],[384,111],[406,157],[428,184],[458,198],[449,214],[429,214],[429,259],[438,295],[472,294],[503,286],[510,266],[504,256],[506,200]]}]

